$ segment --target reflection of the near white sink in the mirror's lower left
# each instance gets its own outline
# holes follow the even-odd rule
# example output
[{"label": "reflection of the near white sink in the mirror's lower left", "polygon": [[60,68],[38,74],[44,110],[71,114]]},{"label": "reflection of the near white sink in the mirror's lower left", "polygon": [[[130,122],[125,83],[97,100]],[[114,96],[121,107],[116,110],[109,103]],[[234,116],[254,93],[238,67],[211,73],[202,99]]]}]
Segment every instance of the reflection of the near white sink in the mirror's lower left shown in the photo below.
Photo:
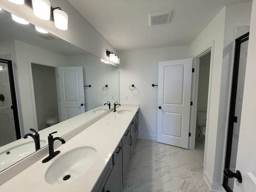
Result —
[{"label": "reflection of the near white sink in the mirror's lower left", "polygon": [[[45,144],[45,140],[40,140],[41,147],[45,146]],[[34,153],[35,151],[36,149],[34,141],[29,141],[0,152],[0,170],[8,168],[12,164],[18,162],[19,160],[22,160],[23,158]]]}]

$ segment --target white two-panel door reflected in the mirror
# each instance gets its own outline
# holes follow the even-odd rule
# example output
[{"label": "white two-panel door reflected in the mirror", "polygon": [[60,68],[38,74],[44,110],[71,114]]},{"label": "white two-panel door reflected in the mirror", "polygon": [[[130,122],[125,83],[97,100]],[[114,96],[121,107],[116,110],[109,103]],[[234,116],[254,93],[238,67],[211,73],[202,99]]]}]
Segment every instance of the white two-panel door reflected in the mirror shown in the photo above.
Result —
[{"label": "white two-panel door reflected in the mirror", "polygon": [[82,67],[58,67],[58,98],[60,121],[85,112]]}]

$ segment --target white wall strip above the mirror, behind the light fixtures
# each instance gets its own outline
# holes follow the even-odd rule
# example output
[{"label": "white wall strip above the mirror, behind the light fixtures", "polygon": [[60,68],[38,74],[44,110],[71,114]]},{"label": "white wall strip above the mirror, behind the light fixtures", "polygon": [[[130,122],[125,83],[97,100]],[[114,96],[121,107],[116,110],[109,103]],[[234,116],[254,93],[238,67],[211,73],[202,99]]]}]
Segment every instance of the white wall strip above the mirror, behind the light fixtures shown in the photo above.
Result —
[{"label": "white wall strip above the mirror, behind the light fixtures", "polygon": [[44,28],[55,36],[99,58],[108,60],[106,50],[118,54],[118,51],[67,0],[51,0],[51,6],[60,7],[68,14],[68,30],[59,30],[54,26],[54,22],[37,18],[34,16],[33,10],[26,5],[17,5],[7,0],[0,0],[1,8]]}]

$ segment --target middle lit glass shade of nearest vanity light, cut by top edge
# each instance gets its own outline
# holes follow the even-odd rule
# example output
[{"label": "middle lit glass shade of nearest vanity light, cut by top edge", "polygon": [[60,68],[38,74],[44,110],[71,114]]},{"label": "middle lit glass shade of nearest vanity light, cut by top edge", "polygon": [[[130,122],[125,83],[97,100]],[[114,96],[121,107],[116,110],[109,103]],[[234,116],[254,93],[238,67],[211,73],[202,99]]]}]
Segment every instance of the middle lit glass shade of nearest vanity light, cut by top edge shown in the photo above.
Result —
[{"label": "middle lit glass shade of nearest vanity light, cut by top edge", "polygon": [[51,16],[51,2],[49,0],[32,0],[34,15],[42,20],[49,20]]}]

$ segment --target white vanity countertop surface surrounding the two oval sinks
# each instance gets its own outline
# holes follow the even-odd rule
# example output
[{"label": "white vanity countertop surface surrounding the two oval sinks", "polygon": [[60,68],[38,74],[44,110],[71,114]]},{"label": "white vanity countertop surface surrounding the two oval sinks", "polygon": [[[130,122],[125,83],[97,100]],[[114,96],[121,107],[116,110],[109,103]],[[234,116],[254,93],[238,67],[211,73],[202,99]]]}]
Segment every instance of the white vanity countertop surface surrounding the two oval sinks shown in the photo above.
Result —
[{"label": "white vanity countertop surface surrounding the two oval sinks", "polygon": [[[139,105],[122,105],[118,107],[117,110],[131,110],[132,112],[128,114],[110,112],[110,114],[74,136],[66,144],[62,144],[55,149],[55,151],[60,150],[58,156],[47,163],[42,163],[42,160],[48,155],[44,156],[44,158],[32,164],[26,170],[2,184],[0,191],[90,192],[108,163],[109,158],[114,153],[116,146],[120,142],[138,108]],[[80,146],[92,146],[97,150],[97,159],[94,164],[84,174],[74,180],[67,181],[65,184],[48,184],[44,179],[44,174],[52,162],[65,152]]]}]

